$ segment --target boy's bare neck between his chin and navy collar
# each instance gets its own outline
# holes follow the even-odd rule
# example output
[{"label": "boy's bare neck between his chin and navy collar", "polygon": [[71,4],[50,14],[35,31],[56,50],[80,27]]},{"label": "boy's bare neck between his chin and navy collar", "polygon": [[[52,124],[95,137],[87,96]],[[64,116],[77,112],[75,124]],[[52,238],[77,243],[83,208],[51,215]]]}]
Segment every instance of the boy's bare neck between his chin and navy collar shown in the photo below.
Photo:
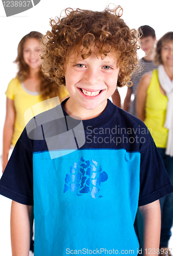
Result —
[{"label": "boy's bare neck between his chin and navy collar", "polygon": [[68,113],[69,116],[78,116],[82,120],[88,120],[99,116],[105,109],[107,105],[107,100],[104,101],[102,104],[97,106],[96,109],[88,110],[84,109],[81,105],[76,104],[73,102],[73,98],[70,97],[64,104],[63,108]]}]

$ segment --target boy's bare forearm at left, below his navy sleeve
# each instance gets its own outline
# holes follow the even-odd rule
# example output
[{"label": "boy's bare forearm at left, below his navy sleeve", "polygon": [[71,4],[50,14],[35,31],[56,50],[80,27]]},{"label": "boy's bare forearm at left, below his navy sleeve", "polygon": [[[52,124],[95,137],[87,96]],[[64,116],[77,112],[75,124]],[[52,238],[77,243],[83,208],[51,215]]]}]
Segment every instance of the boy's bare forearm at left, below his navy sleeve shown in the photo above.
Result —
[{"label": "boy's bare forearm at left, below his navy sleeve", "polygon": [[33,226],[33,206],[12,201],[11,248],[12,256],[28,256]]}]

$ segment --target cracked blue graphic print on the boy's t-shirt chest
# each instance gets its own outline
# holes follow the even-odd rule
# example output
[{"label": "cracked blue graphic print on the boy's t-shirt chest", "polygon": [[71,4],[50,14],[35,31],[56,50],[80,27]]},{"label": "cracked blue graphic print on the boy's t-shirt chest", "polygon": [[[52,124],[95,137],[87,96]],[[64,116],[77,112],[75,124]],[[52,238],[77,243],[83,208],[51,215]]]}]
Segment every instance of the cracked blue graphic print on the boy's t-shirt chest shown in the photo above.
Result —
[{"label": "cracked blue graphic print on the boy's t-shirt chest", "polygon": [[[108,179],[106,172],[102,172],[101,166],[93,159],[84,160],[80,158],[78,163],[70,167],[70,174],[66,175],[63,193],[76,191],[77,196],[83,193],[90,193],[92,198],[96,198],[100,191],[101,182]],[[102,196],[98,196],[101,198]]]}]

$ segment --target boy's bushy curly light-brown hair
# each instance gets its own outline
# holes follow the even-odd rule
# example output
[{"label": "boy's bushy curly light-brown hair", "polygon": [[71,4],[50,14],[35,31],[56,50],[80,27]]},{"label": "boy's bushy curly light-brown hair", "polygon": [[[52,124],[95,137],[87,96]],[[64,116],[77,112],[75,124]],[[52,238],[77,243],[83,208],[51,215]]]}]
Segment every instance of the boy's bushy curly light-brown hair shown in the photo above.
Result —
[{"label": "boy's bushy curly light-brown hair", "polygon": [[[104,11],[73,10],[67,8],[66,16],[50,20],[52,31],[42,39],[42,70],[49,79],[59,85],[65,85],[64,63],[72,52],[83,59],[92,54],[93,46],[98,47],[103,58],[116,52],[120,68],[117,85],[127,85],[132,72],[137,68],[139,46],[138,31],[129,29],[122,16],[120,6]],[[79,53],[78,53],[79,54]]]}]

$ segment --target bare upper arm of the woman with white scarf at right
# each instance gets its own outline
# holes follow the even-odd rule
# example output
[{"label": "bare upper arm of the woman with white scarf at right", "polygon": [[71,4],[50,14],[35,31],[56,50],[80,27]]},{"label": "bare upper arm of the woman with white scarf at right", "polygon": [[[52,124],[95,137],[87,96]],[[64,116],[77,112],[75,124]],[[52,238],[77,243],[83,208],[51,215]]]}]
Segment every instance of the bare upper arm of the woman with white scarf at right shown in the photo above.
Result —
[{"label": "bare upper arm of the woman with white scarf at right", "polygon": [[136,109],[137,109],[138,118],[141,119],[142,121],[145,120],[146,95],[147,95],[147,89],[149,87],[150,80],[151,80],[150,73],[143,76],[141,82],[139,83],[138,91],[137,91]]}]

